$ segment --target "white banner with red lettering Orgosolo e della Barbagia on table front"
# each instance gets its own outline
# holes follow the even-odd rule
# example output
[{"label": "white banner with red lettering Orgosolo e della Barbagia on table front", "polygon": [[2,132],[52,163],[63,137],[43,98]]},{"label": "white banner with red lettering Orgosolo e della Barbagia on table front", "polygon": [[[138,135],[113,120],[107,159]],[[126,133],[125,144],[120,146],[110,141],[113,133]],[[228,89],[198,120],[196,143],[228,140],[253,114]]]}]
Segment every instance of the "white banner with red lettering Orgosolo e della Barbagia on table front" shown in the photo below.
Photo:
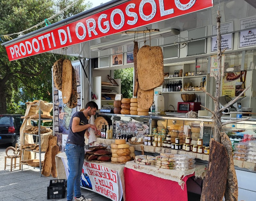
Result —
[{"label": "white banner with red lettering Orgosolo e della Barbagia on table front", "polygon": [[[68,178],[68,160],[61,158]],[[116,170],[84,161],[80,186],[92,190],[113,201],[120,201],[123,195],[121,180]]]}]

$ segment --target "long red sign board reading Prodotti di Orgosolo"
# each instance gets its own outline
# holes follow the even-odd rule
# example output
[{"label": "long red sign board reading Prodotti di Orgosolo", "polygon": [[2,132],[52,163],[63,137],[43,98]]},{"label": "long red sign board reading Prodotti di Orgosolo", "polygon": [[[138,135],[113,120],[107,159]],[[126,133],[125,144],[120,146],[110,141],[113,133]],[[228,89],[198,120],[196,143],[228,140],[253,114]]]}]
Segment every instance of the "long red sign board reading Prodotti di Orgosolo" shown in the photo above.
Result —
[{"label": "long red sign board reading Prodotti di Orgosolo", "polygon": [[6,47],[10,61],[213,6],[212,0],[131,0]]}]

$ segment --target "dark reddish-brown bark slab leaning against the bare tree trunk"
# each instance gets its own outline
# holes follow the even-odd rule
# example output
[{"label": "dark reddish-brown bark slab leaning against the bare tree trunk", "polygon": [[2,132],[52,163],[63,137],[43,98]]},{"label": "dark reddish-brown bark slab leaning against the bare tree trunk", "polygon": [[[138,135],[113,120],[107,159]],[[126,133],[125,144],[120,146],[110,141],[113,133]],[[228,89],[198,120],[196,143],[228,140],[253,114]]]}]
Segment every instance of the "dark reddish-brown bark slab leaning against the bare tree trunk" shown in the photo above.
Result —
[{"label": "dark reddish-brown bark slab leaning against the bare tree trunk", "polygon": [[210,143],[210,155],[204,179],[201,201],[222,200],[227,183],[228,153],[224,145],[214,139]]}]

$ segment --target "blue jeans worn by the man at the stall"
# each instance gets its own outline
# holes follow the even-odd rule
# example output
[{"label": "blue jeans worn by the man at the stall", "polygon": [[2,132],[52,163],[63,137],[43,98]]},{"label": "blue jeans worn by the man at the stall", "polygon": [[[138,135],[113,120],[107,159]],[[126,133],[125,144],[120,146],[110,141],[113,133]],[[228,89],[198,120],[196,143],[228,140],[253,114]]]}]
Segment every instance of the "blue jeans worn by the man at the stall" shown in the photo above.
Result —
[{"label": "blue jeans worn by the man at the stall", "polygon": [[69,169],[67,200],[73,200],[73,191],[75,191],[75,197],[81,197],[80,183],[84,164],[84,146],[67,143],[65,153]]}]

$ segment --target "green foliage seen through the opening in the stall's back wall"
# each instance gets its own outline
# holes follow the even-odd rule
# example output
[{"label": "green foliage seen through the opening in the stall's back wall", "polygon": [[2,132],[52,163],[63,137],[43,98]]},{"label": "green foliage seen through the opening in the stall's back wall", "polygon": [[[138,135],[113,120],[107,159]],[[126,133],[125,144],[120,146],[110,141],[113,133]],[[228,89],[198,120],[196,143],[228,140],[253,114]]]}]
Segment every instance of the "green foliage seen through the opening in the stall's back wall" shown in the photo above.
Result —
[{"label": "green foliage seen through the opening in the stall's back wall", "polygon": [[133,68],[115,70],[114,79],[121,79],[121,93],[123,97],[132,98]]}]

